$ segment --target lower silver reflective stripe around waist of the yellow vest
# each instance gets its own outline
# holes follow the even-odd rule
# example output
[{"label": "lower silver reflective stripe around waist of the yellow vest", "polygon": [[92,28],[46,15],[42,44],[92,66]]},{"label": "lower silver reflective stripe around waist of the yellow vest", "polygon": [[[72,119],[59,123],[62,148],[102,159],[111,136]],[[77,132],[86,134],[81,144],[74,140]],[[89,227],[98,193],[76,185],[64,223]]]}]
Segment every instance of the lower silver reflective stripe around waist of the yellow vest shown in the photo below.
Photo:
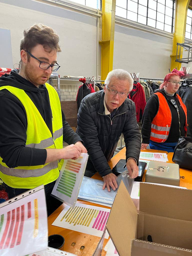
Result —
[{"label": "lower silver reflective stripe around waist of the yellow vest", "polygon": [[33,169],[33,170],[8,168],[0,164],[0,171],[3,174],[9,175],[9,176],[29,178],[29,177],[40,177],[48,173],[50,170],[55,169],[57,167],[58,167],[57,161],[51,162],[42,168]]}]

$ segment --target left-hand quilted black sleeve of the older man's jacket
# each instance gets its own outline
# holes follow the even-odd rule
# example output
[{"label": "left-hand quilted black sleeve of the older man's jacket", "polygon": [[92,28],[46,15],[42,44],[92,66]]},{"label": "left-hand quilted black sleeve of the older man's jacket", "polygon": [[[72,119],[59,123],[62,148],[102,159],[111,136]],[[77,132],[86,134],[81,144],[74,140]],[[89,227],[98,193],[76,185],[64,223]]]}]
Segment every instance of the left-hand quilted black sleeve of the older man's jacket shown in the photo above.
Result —
[{"label": "left-hand quilted black sleeve of the older man's jacket", "polygon": [[99,144],[97,127],[85,101],[81,102],[77,116],[77,125],[78,133],[84,142],[84,146],[87,148],[94,168],[102,177],[111,173],[111,168]]}]

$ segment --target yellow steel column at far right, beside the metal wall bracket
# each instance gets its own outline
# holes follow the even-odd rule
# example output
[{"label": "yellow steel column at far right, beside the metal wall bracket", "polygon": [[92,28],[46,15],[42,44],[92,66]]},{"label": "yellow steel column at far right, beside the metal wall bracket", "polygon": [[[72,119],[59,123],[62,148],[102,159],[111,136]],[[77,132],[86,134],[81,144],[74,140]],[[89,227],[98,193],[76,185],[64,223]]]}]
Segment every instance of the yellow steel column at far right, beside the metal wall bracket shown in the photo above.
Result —
[{"label": "yellow steel column at far right, beside the metal wall bracket", "polygon": [[[185,40],[185,28],[187,19],[187,9],[190,0],[177,0],[175,7],[175,33],[173,36],[173,50],[171,55],[171,70],[175,67],[181,68],[181,63],[175,62],[177,54],[177,43],[184,43]],[[181,57],[183,55],[183,49],[181,51]]]}]

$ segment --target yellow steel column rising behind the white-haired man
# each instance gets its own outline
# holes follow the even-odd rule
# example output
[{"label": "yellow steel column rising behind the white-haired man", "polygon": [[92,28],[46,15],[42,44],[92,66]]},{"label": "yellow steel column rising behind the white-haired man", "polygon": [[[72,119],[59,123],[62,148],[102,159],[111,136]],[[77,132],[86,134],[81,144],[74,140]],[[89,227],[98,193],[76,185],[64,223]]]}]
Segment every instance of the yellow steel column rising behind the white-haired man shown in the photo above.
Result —
[{"label": "yellow steel column rising behind the white-haired man", "polygon": [[116,0],[102,0],[101,80],[113,69]]}]

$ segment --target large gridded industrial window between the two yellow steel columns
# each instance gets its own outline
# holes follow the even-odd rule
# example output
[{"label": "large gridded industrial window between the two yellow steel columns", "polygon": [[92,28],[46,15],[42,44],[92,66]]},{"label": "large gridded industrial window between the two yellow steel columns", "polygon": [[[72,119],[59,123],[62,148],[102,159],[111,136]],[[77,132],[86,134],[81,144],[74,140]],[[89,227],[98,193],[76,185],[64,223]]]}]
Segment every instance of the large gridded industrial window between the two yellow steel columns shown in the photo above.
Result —
[{"label": "large gridded industrial window between the two yellow steel columns", "polygon": [[116,16],[174,32],[174,0],[116,0]]}]

